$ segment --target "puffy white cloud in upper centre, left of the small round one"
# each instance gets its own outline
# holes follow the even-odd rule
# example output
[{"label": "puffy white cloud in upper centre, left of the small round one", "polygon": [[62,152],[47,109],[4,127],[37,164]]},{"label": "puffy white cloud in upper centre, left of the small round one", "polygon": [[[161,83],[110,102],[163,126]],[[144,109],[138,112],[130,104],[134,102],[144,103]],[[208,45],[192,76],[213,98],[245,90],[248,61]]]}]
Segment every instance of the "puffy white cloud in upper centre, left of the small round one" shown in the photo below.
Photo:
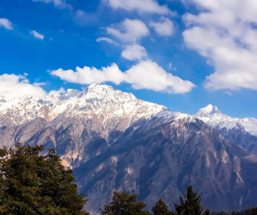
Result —
[{"label": "puffy white cloud in upper centre, left of the small round one", "polygon": [[108,27],[107,33],[124,42],[136,42],[141,37],[149,35],[150,31],[140,20],[125,19],[119,24]]}]

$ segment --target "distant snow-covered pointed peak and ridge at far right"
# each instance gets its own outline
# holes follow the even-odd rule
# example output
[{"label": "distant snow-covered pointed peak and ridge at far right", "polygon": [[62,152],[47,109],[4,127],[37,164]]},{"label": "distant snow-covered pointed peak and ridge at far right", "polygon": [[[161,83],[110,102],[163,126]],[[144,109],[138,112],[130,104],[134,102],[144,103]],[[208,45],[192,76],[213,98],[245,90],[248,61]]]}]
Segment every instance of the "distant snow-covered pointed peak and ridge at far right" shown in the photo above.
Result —
[{"label": "distant snow-covered pointed peak and ridge at far right", "polygon": [[234,127],[240,128],[241,126],[244,129],[251,133],[252,135],[257,136],[257,119],[245,117],[243,119],[232,118],[228,115],[221,113],[221,111],[211,104],[205,108],[201,108],[198,113],[196,113],[196,117],[201,119],[212,128],[231,130]]}]

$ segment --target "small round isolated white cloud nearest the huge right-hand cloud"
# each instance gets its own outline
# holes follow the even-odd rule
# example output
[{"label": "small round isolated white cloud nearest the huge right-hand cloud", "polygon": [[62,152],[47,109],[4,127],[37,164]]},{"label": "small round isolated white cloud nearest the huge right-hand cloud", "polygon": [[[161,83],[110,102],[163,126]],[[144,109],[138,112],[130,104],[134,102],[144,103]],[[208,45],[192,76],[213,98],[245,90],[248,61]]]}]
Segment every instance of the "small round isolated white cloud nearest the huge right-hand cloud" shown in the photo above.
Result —
[{"label": "small round isolated white cloud nearest the huge right-hand cloud", "polygon": [[153,27],[154,30],[161,36],[171,36],[174,33],[173,22],[165,17],[161,17],[160,22],[150,22],[149,26]]}]

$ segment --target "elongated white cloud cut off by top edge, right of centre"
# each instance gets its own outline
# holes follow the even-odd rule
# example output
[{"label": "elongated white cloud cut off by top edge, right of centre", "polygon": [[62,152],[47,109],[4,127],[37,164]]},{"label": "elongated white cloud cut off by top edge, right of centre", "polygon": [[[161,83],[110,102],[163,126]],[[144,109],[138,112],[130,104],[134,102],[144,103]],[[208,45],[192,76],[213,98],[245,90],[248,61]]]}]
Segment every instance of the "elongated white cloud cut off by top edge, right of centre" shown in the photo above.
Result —
[{"label": "elongated white cloud cut off by top edge, right of centre", "polygon": [[127,11],[137,11],[138,13],[156,13],[175,15],[167,5],[159,5],[156,0],[103,0],[108,2],[113,9],[125,9]]}]

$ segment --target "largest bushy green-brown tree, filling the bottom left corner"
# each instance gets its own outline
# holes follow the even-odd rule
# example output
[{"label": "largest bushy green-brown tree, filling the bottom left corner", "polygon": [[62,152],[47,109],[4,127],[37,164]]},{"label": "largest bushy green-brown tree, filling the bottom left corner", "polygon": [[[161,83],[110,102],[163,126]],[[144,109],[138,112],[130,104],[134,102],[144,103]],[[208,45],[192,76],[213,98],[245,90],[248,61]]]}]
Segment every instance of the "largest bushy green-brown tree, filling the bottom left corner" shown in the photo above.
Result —
[{"label": "largest bushy green-brown tree, filling the bottom left corner", "polygon": [[88,215],[85,194],[77,194],[72,170],[66,170],[55,149],[17,143],[0,149],[0,214]]}]

